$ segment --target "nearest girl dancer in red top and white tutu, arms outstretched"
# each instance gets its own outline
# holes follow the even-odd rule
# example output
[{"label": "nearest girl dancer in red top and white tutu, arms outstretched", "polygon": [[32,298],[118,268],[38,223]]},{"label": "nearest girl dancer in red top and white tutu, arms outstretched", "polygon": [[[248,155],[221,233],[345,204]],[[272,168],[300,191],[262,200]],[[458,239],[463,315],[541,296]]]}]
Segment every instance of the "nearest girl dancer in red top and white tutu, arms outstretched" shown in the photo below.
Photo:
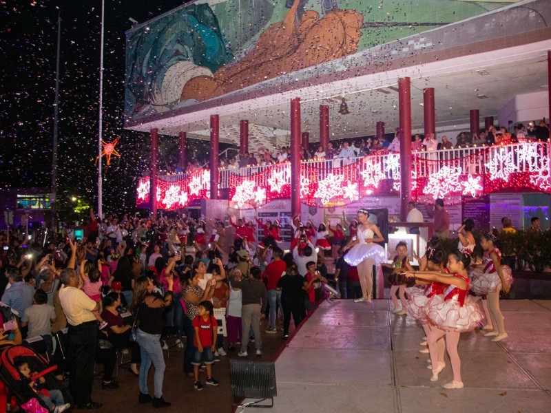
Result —
[{"label": "nearest girl dancer in red top and white tutu, arms outstretched", "polygon": [[[428,333],[428,350],[430,363],[433,366],[433,377],[430,381],[437,381],[438,374],[444,368],[438,364],[437,340],[446,336],[446,348],[452,364],[453,381],[442,387],[446,389],[461,389],[461,360],[457,353],[459,335],[461,332],[473,330],[482,319],[482,313],[476,304],[473,304],[467,295],[469,279],[467,269],[470,265],[470,251],[463,249],[448,255],[448,270],[450,274],[424,271],[416,273],[406,272],[406,277],[416,277],[425,281],[440,282],[448,288],[444,294],[435,295],[426,306],[428,323],[435,326]],[[435,368],[435,366],[437,366]]]}]

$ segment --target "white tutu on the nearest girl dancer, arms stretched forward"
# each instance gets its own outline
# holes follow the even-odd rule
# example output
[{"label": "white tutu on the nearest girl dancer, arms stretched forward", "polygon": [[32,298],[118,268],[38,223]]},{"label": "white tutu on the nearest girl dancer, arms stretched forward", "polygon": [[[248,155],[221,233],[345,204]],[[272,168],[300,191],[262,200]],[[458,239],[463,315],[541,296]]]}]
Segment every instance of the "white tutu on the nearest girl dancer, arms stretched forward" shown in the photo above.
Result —
[{"label": "white tutu on the nearest girl dancer, arms stretched forward", "polygon": [[455,297],[444,301],[444,295],[435,295],[430,298],[425,313],[429,324],[444,331],[472,331],[484,319],[478,305],[469,296],[461,306]]}]

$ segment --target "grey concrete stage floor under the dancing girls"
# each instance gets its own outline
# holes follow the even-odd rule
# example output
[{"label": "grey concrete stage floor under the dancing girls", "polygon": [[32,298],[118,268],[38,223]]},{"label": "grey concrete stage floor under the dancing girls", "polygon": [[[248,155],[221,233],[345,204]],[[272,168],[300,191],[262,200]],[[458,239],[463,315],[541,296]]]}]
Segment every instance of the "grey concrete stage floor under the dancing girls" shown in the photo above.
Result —
[{"label": "grey concrete stage floor under the dancing girls", "polygon": [[325,301],[275,362],[278,396],[269,411],[551,412],[551,301],[501,301],[509,337],[499,343],[479,330],[461,335],[461,390],[440,387],[452,381],[447,355],[439,381],[430,382],[420,324],[391,306]]}]

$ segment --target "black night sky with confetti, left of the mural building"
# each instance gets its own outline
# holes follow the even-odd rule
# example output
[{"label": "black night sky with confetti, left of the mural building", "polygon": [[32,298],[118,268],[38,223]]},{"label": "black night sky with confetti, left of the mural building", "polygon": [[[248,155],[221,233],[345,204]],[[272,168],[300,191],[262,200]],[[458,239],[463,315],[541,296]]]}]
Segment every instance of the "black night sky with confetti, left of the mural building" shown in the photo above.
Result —
[{"label": "black night sky with confetti, left of the mural building", "polygon": [[[123,130],[128,18],[143,22],[183,3],[105,0],[103,139],[121,137],[121,159],[112,158],[105,177],[104,212],[134,208],[136,180],[149,162],[149,136]],[[0,186],[49,191],[61,12],[58,200],[63,205],[76,195],[95,206],[101,1],[1,0],[0,6]],[[161,138],[161,152],[176,139]]]}]

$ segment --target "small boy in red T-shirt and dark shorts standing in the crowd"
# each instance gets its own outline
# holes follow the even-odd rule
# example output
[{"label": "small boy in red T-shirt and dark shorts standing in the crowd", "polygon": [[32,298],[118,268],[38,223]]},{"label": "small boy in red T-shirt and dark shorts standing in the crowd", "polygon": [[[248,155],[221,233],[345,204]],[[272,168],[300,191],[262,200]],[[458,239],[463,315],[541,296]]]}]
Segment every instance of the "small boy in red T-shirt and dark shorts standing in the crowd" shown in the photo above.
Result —
[{"label": "small boy in red T-shirt and dark shorts standing in the crowd", "polygon": [[218,385],[218,381],[212,378],[213,353],[216,350],[218,322],[214,318],[214,315],[211,315],[213,313],[213,306],[210,301],[201,301],[198,307],[198,316],[193,321],[195,330],[195,357],[191,364],[194,365],[194,388],[202,390],[203,385],[199,381],[199,366],[201,365],[201,361],[207,366],[207,380],[205,383]]}]

